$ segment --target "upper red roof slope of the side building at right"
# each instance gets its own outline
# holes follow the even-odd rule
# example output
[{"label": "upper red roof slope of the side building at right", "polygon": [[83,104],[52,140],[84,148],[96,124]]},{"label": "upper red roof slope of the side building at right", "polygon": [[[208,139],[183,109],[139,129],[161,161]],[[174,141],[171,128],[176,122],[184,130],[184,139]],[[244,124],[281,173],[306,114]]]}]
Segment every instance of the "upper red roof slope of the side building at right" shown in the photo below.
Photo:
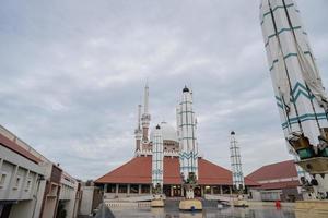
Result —
[{"label": "upper red roof slope of the side building at right", "polygon": [[286,160],[282,162],[267,165],[248,174],[249,179],[257,182],[294,177],[297,177],[294,160]]}]

